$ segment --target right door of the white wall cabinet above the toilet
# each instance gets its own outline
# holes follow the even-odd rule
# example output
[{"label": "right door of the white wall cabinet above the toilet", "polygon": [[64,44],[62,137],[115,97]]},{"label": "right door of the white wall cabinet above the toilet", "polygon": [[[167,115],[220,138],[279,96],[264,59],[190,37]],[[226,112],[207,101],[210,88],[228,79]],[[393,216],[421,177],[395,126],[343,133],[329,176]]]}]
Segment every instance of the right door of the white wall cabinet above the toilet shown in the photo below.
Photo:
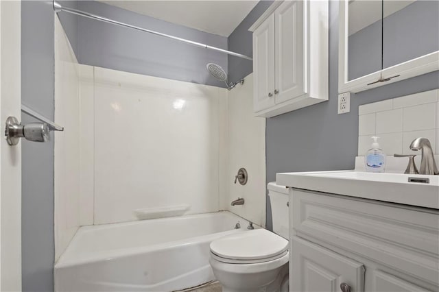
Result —
[{"label": "right door of the white wall cabinet above the toilet", "polygon": [[274,12],[276,104],[305,93],[303,5],[304,1],[285,1]]}]

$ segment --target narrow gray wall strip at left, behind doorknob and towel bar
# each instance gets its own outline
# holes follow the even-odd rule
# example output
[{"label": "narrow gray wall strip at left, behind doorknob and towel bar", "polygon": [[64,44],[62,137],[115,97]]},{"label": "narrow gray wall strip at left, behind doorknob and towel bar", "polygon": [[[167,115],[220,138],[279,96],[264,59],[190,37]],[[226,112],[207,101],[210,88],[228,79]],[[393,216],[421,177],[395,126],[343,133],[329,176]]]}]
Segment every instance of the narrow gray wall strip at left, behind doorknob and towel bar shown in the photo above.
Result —
[{"label": "narrow gray wall strip at left, behind doorknob and towel bar", "polygon": [[[21,5],[22,102],[54,118],[54,12],[51,1]],[[34,121],[22,114],[23,123]],[[54,290],[54,140],[21,140],[23,291]]]}]

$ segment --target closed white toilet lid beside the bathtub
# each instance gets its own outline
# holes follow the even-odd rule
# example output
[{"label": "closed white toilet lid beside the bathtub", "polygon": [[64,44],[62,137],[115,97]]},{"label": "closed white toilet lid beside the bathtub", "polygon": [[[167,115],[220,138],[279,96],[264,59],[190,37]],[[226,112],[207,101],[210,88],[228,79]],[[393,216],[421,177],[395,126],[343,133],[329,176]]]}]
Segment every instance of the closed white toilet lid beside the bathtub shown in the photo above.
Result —
[{"label": "closed white toilet lid beside the bathtub", "polygon": [[288,241],[265,229],[224,236],[212,241],[211,252],[233,260],[262,260],[284,254]]}]

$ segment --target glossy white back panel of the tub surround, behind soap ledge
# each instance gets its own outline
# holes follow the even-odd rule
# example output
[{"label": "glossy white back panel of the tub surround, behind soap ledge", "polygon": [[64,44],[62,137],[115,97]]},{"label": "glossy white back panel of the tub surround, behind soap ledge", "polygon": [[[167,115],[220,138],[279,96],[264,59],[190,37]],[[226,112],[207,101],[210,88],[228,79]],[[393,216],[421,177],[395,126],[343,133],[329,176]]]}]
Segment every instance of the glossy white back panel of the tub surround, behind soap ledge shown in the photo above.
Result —
[{"label": "glossy white back panel of the tub surround, behind soap ledge", "polygon": [[137,220],[142,208],[219,210],[226,90],[99,67],[94,74],[95,112],[86,120],[95,125],[94,223]]}]

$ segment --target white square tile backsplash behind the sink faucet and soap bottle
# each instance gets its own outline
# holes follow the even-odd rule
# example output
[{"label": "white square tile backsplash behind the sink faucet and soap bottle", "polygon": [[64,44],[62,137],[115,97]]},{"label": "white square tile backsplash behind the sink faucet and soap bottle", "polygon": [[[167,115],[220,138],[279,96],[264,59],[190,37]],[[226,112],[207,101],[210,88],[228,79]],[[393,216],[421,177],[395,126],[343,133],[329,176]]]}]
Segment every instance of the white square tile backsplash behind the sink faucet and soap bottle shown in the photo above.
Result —
[{"label": "white square tile backsplash behind the sink faucet and soap bottle", "polygon": [[388,156],[412,154],[409,145],[417,137],[428,138],[439,154],[439,89],[359,106],[358,156],[370,149],[370,136]]}]

